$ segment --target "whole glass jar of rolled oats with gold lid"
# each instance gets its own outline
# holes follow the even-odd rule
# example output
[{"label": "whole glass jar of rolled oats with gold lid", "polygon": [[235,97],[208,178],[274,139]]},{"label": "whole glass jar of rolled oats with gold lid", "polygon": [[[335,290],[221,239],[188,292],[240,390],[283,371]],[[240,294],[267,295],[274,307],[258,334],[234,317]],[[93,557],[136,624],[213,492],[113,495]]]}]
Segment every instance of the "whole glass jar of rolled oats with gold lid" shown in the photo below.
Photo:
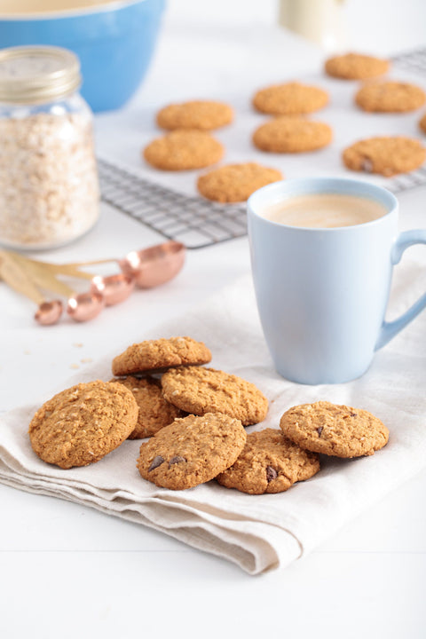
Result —
[{"label": "whole glass jar of rolled oats with gold lid", "polygon": [[0,51],[0,243],[55,248],[99,217],[93,116],[59,47]]}]

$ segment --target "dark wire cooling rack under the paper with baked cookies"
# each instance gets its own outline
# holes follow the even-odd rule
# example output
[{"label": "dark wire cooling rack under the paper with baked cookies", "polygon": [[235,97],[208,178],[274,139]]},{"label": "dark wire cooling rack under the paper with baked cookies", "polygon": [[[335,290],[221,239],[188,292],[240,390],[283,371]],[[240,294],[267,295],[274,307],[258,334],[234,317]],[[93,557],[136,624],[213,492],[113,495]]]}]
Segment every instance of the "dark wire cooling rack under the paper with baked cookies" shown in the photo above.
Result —
[{"label": "dark wire cooling rack under the paper with baked cookies", "polygon": [[[426,77],[426,48],[393,56],[396,67]],[[245,204],[218,204],[154,184],[112,162],[99,160],[102,200],[186,248],[204,248],[247,234]],[[392,193],[426,185],[426,168],[386,183]]]}]

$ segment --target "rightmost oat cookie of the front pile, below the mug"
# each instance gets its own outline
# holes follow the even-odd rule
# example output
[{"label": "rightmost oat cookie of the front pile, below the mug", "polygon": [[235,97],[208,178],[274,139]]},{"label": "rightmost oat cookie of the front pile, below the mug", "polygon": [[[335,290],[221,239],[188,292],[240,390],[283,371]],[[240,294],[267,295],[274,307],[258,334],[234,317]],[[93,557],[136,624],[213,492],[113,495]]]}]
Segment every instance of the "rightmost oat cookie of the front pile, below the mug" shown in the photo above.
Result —
[{"label": "rightmost oat cookie of the front pile, below the mug", "polygon": [[389,430],[375,415],[327,401],[293,406],[282,415],[280,428],[306,450],[335,457],[372,455],[389,438]]}]

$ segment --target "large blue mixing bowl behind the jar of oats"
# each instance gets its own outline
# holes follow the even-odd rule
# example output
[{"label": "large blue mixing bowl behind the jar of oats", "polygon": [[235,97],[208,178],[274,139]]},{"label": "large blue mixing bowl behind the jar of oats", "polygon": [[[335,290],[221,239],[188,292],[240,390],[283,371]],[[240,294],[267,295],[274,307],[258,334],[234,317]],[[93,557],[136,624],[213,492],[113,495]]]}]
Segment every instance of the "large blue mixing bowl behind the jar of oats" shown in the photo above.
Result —
[{"label": "large blue mixing bowl behind the jar of oats", "polygon": [[53,4],[53,11],[44,12],[25,12],[34,7],[30,0],[15,0],[13,13],[2,14],[0,7],[0,48],[51,44],[70,49],[80,59],[82,95],[93,111],[125,104],[149,66],[164,0],[117,0],[83,8],[82,0],[74,0],[78,9],[68,8],[73,0]]}]

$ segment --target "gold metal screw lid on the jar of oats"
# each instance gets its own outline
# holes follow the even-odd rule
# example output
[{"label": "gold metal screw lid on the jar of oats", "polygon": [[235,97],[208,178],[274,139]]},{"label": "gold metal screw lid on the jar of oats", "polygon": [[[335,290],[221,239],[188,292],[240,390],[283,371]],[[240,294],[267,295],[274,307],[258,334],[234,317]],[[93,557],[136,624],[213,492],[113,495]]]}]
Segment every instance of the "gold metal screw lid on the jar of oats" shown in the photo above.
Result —
[{"label": "gold metal screw lid on the jar of oats", "polygon": [[80,62],[67,49],[18,46],[0,51],[0,102],[43,104],[76,91]]}]

